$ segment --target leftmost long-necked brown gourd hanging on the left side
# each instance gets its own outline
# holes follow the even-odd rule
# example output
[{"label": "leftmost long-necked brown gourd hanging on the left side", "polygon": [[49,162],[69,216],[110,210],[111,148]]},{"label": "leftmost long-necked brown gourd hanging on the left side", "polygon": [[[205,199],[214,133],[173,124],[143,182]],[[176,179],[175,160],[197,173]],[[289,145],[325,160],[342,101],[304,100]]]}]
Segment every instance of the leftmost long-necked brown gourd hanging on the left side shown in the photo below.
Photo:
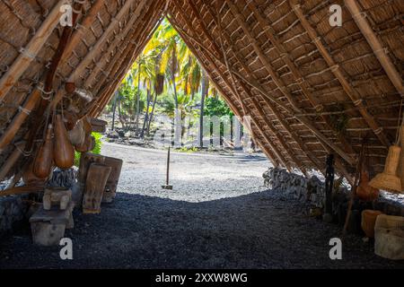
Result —
[{"label": "leftmost long-necked brown gourd hanging on the left side", "polygon": [[48,125],[47,135],[45,142],[40,146],[40,150],[33,162],[33,173],[38,178],[48,178],[53,166],[53,141],[52,141],[53,127]]}]

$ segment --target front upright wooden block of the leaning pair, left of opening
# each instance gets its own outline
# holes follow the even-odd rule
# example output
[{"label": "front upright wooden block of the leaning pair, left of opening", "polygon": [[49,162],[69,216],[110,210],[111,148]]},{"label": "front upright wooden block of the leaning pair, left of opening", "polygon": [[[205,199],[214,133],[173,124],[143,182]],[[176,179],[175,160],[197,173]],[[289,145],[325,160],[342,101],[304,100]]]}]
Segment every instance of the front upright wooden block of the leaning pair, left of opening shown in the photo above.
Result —
[{"label": "front upright wooden block of the leaning pair, left of opening", "polygon": [[101,201],[111,167],[104,164],[92,163],[85,180],[83,196],[83,213],[101,213]]}]

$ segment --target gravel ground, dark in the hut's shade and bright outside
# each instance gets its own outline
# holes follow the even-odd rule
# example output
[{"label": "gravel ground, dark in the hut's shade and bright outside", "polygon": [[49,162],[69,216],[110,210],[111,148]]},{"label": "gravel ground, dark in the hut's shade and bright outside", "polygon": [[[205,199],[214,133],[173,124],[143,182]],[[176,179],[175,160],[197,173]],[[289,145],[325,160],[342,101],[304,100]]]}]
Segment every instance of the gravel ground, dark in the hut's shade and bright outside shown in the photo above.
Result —
[{"label": "gravel ground, dark in the hut's shade and bright outside", "polygon": [[262,187],[270,165],[260,155],[171,153],[105,143],[123,158],[119,194],[99,215],[75,211],[74,259],[31,244],[29,227],[0,240],[3,268],[404,268],[376,257],[349,235],[343,259],[329,259],[340,229],[303,215],[303,205]]}]

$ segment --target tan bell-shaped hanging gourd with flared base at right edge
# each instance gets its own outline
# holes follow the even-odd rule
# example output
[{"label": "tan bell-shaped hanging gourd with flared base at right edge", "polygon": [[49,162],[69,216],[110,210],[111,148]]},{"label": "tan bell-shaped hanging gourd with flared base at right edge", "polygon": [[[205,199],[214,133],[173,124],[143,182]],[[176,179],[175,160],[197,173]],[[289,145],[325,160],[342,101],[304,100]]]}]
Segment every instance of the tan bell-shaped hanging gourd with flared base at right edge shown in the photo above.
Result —
[{"label": "tan bell-shaped hanging gourd with flared base at right edge", "polygon": [[387,154],[386,163],[382,173],[376,175],[369,185],[374,188],[401,193],[401,179],[397,176],[397,168],[400,161],[401,148],[398,145],[391,145]]}]

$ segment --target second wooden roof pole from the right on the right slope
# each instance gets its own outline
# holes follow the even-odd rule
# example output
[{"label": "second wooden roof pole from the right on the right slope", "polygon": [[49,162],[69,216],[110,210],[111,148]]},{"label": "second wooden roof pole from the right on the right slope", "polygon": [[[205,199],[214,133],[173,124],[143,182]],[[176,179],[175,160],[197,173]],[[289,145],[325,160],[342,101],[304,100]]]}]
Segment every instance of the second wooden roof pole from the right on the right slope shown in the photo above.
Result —
[{"label": "second wooden roof pole from the right on the right slope", "polygon": [[347,93],[348,97],[353,101],[354,105],[358,108],[362,117],[366,121],[367,125],[372,128],[374,135],[376,135],[379,140],[388,147],[390,145],[390,141],[386,135],[383,133],[382,126],[375,121],[373,116],[369,113],[369,111],[364,107],[364,102],[360,98],[357,91],[348,83],[344,74],[342,74],[341,69],[337,63],[335,63],[334,59],[329,55],[329,51],[324,45],[321,43],[321,38],[318,36],[317,31],[312,28],[312,25],[307,21],[306,17],[303,14],[302,8],[300,4],[297,4],[296,0],[289,0],[294,13],[296,14],[299,21],[302,23],[304,30],[307,31],[310,39],[314,42],[316,47],[319,49],[321,56],[325,59],[327,64],[329,65],[331,72],[336,76],[339,83],[342,85],[344,91]]}]

